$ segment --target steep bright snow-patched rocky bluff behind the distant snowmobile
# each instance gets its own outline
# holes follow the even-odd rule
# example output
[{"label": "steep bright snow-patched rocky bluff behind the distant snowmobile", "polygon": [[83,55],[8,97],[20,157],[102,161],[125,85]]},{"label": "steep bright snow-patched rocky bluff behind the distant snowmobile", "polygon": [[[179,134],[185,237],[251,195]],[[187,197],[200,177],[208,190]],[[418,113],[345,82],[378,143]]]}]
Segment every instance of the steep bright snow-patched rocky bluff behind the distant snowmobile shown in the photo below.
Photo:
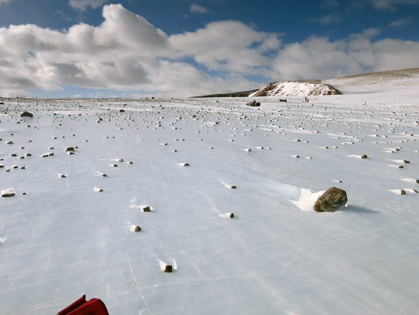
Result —
[{"label": "steep bright snow-patched rocky bluff behind the distant snowmobile", "polygon": [[278,81],[265,85],[253,96],[299,96],[299,95],[336,95],[341,94],[337,89],[322,83],[303,81]]}]

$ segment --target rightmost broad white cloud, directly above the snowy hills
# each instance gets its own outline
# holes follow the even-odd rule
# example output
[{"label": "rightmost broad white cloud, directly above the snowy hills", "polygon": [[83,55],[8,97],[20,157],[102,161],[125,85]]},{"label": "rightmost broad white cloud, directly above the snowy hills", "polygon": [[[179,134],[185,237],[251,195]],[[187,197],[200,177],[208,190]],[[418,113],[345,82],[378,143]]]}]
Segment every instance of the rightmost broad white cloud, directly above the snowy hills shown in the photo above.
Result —
[{"label": "rightmost broad white cloud, directly above the snowy hills", "polygon": [[367,29],[348,39],[330,41],[326,37],[311,37],[301,43],[286,45],[275,59],[272,78],[334,79],[418,67],[419,41],[374,41],[377,32]]}]

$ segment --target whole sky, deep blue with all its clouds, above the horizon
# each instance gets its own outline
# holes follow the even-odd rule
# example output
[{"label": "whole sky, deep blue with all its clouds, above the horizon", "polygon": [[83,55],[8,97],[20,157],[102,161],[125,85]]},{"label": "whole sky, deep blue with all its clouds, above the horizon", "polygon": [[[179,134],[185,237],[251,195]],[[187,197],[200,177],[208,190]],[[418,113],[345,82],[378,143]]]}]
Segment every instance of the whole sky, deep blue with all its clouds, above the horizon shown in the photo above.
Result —
[{"label": "whole sky, deep blue with all its clouds, above the horizon", "polygon": [[193,96],[419,67],[419,0],[0,0],[0,95]]}]

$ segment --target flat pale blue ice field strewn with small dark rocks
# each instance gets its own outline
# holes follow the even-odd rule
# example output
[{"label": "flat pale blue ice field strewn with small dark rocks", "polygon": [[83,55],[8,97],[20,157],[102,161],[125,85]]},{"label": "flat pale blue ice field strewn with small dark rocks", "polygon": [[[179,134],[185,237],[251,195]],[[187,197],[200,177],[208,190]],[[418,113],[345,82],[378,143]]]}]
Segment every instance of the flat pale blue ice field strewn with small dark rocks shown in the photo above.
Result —
[{"label": "flat pale blue ice field strewn with small dark rocks", "polygon": [[415,314],[418,94],[2,99],[0,314]]}]

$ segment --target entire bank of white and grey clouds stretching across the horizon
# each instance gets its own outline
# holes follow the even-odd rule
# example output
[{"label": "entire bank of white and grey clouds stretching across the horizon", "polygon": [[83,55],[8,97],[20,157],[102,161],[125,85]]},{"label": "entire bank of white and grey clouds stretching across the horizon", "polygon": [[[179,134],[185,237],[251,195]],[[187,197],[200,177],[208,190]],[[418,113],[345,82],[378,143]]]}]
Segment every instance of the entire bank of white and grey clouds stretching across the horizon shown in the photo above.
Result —
[{"label": "entire bank of white and grey clouds stretching across the horizon", "polygon": [[121,4],[105,5],[103,18],[97,27],[79,23],[64,31],[32,24],[0,28],[0,95],[80,86],[192,96],[258,88],[255,76],[265,84],[419,65],[419,41],[374,41],[375,29],[338,41],[311,37],[283,45],[278,33],[239,21],[168,36]]}]

